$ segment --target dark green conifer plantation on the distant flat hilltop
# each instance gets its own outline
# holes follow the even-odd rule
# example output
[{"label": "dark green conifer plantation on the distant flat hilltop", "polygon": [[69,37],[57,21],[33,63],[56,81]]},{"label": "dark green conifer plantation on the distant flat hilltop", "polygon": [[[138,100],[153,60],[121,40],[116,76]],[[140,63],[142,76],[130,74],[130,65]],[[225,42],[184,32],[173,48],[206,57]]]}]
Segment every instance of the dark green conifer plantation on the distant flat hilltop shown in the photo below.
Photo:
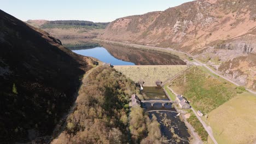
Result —
[{"label": "dark green conifer plantation on the distant flat hilltop", "polygon": [[85,29],[104,29],[109,22],[91,22],[91,21],[47,21],[40,28],[85,28]]}]

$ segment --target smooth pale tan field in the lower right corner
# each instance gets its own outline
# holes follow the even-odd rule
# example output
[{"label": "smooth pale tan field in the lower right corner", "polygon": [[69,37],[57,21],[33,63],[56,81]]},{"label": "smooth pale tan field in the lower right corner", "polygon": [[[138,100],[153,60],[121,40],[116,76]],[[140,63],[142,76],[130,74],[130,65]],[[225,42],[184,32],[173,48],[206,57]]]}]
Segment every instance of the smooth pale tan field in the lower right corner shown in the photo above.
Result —
[{"label": "smooth pale tan field in the lower right corner", "polygon": [[256,95],[238,95],[210,112],[207,122],[218,143],[255,143]]}]

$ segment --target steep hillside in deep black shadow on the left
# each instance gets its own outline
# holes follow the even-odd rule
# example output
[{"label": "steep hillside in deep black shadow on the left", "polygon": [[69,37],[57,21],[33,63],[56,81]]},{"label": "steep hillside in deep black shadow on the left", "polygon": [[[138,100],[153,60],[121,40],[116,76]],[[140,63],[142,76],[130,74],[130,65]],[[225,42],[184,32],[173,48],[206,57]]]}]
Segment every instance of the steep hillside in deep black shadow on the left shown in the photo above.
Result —
[{"label": "steep hillside in deep black shadow on the left", "polygon": [[0,10],[0,143],[48,139],[73,103],[86,57]]}]

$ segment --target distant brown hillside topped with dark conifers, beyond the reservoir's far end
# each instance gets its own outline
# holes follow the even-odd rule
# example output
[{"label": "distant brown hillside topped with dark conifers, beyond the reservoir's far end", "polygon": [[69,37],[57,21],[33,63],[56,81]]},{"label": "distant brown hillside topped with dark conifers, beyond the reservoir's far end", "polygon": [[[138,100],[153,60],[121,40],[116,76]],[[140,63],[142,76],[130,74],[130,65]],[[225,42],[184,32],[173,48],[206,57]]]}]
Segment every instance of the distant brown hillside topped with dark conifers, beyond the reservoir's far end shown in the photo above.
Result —
[{"label": "distant brown hillside topped with dark conifers, beyond the reservoir's far end", "polygon": [[96,38],[99,33],[109,24],[109,22],[91,22],[78,20],[28,20],[31,26],[43,29],[50,35],[60,39],[63,45],[77,47],[81,45],[91,45],[91,39]]}]

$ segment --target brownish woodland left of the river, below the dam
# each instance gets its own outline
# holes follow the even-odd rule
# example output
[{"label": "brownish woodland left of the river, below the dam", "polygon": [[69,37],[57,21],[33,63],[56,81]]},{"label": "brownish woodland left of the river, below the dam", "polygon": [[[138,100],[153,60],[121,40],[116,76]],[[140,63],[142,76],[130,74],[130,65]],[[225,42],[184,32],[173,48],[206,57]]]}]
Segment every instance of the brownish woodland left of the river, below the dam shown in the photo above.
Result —
[{"label": "brownish woodland left of the river, below the dam", "polygon": [[67,143],[158,143],[160,124],[141,107],[129,108],[134,83],[111,67],[98,66],[79,90],[67,118]]}]

